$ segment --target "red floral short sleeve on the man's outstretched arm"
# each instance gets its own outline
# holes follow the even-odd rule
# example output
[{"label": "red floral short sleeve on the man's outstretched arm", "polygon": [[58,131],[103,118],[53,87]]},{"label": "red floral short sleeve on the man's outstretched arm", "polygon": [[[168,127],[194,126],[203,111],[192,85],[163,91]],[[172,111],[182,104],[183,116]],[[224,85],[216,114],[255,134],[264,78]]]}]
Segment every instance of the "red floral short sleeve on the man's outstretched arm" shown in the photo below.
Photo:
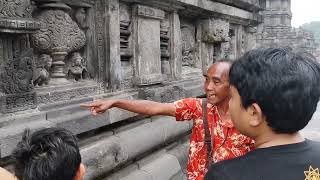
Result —
[{"label": "red floral short sleeve on the man's outstretched arm", "polygon": [[174,102],[176,107],[176,120],[185,121],[198,118],[201,114],[201,100],[197,98],[186,98]]}]

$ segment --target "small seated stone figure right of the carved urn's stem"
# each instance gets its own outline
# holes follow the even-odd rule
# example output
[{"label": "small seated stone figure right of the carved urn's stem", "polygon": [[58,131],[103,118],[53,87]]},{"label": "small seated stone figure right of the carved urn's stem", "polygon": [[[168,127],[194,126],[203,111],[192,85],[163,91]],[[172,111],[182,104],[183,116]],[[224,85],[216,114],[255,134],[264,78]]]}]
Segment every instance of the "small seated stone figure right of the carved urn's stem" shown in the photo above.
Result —
[{"label": "small seated stone figure right of the carved urn's stem", "polygon": [[79,52],[74,52],[70,58],[72,64],[68,69],[68,77],[79,81],[86,79],[88,75],[87,68],[84,65],[83,58]]}]

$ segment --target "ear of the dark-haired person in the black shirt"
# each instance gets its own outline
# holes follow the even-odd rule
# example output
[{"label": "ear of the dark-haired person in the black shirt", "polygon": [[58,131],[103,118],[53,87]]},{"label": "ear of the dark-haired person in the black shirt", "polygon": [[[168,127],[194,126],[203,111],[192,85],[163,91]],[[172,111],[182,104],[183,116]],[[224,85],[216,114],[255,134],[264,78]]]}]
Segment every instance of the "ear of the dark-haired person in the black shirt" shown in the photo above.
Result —
[{"label": "ear of the dark-haired person in the black shirt", "polygon": [[250,119],[249,119],[249,125],[253,127],[259,126],[261,123],[263,123],[263,113],[260,108],[260,106],[257,103],[251,104],[247,111],[249,113]]}]

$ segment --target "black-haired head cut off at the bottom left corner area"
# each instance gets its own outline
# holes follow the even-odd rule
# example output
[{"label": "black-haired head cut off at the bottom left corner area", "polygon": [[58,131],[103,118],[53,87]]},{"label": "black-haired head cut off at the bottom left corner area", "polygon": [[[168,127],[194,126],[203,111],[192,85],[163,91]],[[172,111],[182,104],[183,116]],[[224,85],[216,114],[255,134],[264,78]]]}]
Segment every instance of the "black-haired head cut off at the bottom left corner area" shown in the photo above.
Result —
[{"label": "black-haired head cut off at the bottom left corner area", "polygon": [[20,180],[74,180],[84,173],[77,138],[63,128],[26,130],[12,156]]}]

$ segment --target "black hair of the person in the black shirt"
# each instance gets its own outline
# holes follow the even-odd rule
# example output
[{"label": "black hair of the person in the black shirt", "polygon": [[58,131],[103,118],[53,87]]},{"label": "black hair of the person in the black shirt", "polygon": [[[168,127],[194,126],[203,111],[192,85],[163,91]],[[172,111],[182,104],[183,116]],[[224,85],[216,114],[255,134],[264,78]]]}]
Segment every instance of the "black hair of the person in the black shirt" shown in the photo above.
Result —
[{"label": "black hair of the person in the black shirt", "polygon": [[243,107],[257,103],[276,133],[303,129],[317,108],[320,65],[310,54],[290,48],[251,50],[233,63],[229,75]]}]

